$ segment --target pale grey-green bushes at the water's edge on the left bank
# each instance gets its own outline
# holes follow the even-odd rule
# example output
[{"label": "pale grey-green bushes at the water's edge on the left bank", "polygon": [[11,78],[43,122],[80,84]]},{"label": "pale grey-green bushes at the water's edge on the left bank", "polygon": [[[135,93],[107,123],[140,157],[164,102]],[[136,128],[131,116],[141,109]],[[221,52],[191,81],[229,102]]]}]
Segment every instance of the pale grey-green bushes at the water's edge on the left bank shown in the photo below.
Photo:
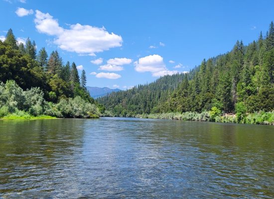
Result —
[{"label": "pale grey-green bushes at the water's edge on the left bank", "polygon": [[48,102],[39,88],[23,91],[13,80],[0,83],[0,119],[98,118],[99,108],[80,96]]}]

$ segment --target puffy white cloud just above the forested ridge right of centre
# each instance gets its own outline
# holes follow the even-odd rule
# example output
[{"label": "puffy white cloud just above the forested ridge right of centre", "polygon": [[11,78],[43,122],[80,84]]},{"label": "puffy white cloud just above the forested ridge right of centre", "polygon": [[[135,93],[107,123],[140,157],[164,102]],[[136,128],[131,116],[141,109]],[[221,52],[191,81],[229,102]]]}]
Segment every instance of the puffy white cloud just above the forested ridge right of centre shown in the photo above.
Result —
[{"label": "puffy white cloud just above the forested ridge right of centre", "polygon": [[178,71],[169,71],[163,62],[163,58],[159,55],[149,55],[139,58],[134,64],[137,72],[151,72],[153,77],[178,73]]}]

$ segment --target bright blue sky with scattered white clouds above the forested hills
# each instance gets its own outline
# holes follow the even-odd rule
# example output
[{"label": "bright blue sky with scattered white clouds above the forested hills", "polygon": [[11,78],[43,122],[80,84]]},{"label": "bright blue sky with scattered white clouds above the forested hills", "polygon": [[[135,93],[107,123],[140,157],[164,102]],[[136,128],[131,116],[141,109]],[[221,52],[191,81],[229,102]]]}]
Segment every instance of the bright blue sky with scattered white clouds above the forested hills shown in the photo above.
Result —
[{"label": "bright blue sky with scattered white clouds above the forested hills", "polygon": [[74,61],[88,86],[128,89],[252,42],[273,8],[273,0],[0,0],[0,39],[12,28],[18,41]]}]

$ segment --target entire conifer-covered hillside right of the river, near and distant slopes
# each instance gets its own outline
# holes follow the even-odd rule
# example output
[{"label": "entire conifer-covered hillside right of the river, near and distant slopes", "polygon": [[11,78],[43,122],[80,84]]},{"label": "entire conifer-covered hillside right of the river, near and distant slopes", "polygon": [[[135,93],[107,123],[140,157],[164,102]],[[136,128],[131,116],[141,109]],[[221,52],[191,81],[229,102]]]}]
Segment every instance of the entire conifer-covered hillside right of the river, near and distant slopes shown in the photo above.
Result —
[{"label": "entire conifer-covered hillside right of the river, near and distant slopes", "polygon": [[205,120],[221,121],[221,116],[236,113],[230,121],[245,123],[248,113],[256,112],[269,117],[262,120],[272,122],[274,23],[265,36],[261,32],[258,40],[247,46],[237,41],[230,52],[204,59],[189,73],[164,76],[147,85],[109,94],[98,102],[115,116],[203,112],[208,116]]}]

